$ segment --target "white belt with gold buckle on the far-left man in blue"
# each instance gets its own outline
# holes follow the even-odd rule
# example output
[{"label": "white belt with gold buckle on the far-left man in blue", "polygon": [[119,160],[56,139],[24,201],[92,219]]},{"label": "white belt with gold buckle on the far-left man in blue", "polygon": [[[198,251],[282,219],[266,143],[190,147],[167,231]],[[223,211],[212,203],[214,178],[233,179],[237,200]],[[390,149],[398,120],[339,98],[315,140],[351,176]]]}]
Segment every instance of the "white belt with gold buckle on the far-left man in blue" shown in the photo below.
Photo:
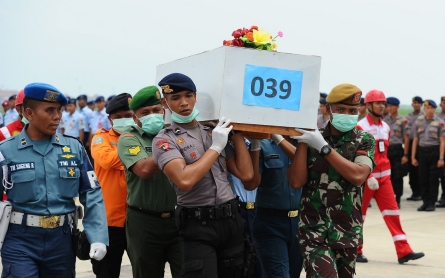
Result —
[{"label": "white belt with gold buckle on the far-left man in blue", "polygon": [[[68,224],[73,223],[73,214],[68,213]],[[44,229],[54,229],[63,226],[66,215],[33,215],[28,214],[26,217],[26,226],[38,227]],[[23,213],[13,211],[9,223],[21,225]]]}]

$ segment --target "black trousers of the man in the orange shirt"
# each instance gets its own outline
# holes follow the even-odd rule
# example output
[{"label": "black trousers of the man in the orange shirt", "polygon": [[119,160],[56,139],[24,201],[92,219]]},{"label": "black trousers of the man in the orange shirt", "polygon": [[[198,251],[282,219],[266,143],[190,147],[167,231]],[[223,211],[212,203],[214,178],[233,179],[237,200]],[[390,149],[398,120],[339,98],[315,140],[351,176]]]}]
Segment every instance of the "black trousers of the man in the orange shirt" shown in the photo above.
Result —
[{"label": "black trousers of the man in the orange shirt", "polygon": [[125,228],[108,226],[110,246],[101,261],[91,259],[93,272],[97,278],[118,278],[121,273],[122,256],[127,250]]}]

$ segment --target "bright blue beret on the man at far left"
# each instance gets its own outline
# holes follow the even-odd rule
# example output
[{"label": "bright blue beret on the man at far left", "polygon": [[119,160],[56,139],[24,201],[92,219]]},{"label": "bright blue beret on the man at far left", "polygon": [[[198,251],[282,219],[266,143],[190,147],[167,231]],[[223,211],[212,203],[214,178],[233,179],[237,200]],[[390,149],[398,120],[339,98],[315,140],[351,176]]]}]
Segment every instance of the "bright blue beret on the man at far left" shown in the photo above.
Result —
[{"label": "bright blue beret on the man at far left", "polygon": [[25,97],[38,101],[59,102],[62,106],[65,106],[68,101],[62,92],[45,83],[31,83],[26,85]]}]

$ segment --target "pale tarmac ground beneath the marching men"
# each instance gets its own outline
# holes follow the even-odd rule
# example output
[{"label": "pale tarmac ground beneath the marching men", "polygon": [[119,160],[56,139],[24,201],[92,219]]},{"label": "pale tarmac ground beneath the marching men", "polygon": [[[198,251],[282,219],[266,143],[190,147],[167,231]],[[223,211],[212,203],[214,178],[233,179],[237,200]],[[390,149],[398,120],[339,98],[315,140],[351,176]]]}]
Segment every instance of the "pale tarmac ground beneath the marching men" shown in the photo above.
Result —
[{"label": "pale tarmac ground beneath the marching men", "polygon": [[[424,252],[425,257],[409,261],[403,265],[397,262],[392,236],[389,233],[375,200],[368,209],[364,225],[363,254],[368,263],[357,263],[356,276],[359,278],[439,278],[445,277],[445,208],[436,208],[434,212],[418,212],[421,202],[406,201],[411,189],[405,179],[400,218],[402,227],[408,236],[408,242],[415,252]],[[442,249],[444,248],[444,249]],[[89,261],[77,261],[76,277],[94,278]],[[130,261],[124,255],[121,268],[122,278],[132,277]],[[165,278],[172,277],[168,264]],[[305,272],[300,277],[305,277]]]}]

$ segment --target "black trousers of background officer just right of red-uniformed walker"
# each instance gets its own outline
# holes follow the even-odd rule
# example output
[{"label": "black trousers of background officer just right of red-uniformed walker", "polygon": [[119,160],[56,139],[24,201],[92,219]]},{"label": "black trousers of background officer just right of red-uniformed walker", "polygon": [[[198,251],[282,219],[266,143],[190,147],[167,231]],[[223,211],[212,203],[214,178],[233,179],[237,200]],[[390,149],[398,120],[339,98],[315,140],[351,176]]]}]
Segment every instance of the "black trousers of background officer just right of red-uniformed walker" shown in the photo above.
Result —
[{"label": "black trousers of background officer just right of red-uniformed walker", "polygon": [[402,144],[390,145],[388,148],[388,159],[391,162],[391,183],[396,195],[397,203],[403,195],[403,177],[407,174],[408,165],[402,164],[403,158]]}]

